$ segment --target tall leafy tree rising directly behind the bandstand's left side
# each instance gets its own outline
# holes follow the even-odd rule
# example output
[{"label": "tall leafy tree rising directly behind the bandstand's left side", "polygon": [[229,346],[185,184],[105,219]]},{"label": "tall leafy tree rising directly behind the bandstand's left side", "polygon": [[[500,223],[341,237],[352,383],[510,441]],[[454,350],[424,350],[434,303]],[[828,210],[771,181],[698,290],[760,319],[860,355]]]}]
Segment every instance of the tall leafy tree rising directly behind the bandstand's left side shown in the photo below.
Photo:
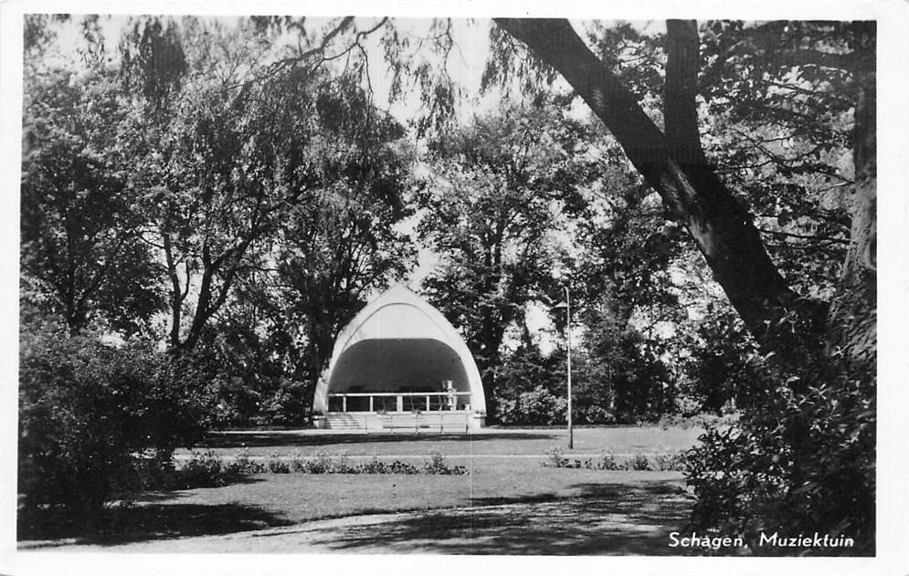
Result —
[{"label": "tall leafy tree rising directly behind the bandstand's left side", "polygon": [[338,332],[416,256],[398,226],[411,214],[402,127],[355,87],[326,88],[318,101],[323,135],[311,153],[324,158],[324,179],[301,190],[275,245],[277,281],[303,327],[295,373],[310,386],[327,367]]}]

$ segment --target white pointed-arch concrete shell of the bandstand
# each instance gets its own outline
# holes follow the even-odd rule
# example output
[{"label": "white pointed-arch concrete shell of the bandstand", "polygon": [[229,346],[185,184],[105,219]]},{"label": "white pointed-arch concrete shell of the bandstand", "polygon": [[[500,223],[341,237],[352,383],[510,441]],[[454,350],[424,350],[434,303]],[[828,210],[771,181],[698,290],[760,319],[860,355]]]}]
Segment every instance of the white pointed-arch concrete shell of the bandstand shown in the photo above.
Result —
[{"label": "white pointed-arch concrete shell of the bandstand", "polygon": [[[401,350],[402,347],[417,355],[413,358],[418,364],[415,370],[421,373],[436,373],[433,371],[441,370],[439,364],[447,364],[456,358],[460,366],[452,367],[449,378],[454,381],[456,389],[470,392],[472,411],[485,413],[486,399],[480,371],[458,330],[439,310],[403,284],[388,288],[367,304],[338,335],[334,341],[332,361],[316,385],[313,410],[327,411],[328,393],[339,386],[337,378],[333,381],[333,377],[350,372],[346,365],[349,361],[370,359],[381,370],[382,366],[390,366],[388,362],[383,363],[382,351]],[[366,385],[364,390],[380,392],[381,386],[386,383],[382,375],[377,375],[375,382],[374,385]]]}]

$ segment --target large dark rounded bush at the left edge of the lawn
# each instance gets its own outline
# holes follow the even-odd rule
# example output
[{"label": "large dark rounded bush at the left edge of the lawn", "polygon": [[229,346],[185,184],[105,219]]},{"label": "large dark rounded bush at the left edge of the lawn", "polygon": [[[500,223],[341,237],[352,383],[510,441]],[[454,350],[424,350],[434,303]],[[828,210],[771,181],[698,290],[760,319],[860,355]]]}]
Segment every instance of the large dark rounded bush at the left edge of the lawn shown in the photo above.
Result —
[{"label": "large dark rounded bush at the left edge of the lawn", "polygon": [[[49,323],[23,326],[18,489],[25,514],[50,506],[89,520],[115,492],[153,482],[148,458],[160,467],[203,433],[199,382],[190,361],[68,337]],[[138,468],[137,458],[145,459]]]}]

